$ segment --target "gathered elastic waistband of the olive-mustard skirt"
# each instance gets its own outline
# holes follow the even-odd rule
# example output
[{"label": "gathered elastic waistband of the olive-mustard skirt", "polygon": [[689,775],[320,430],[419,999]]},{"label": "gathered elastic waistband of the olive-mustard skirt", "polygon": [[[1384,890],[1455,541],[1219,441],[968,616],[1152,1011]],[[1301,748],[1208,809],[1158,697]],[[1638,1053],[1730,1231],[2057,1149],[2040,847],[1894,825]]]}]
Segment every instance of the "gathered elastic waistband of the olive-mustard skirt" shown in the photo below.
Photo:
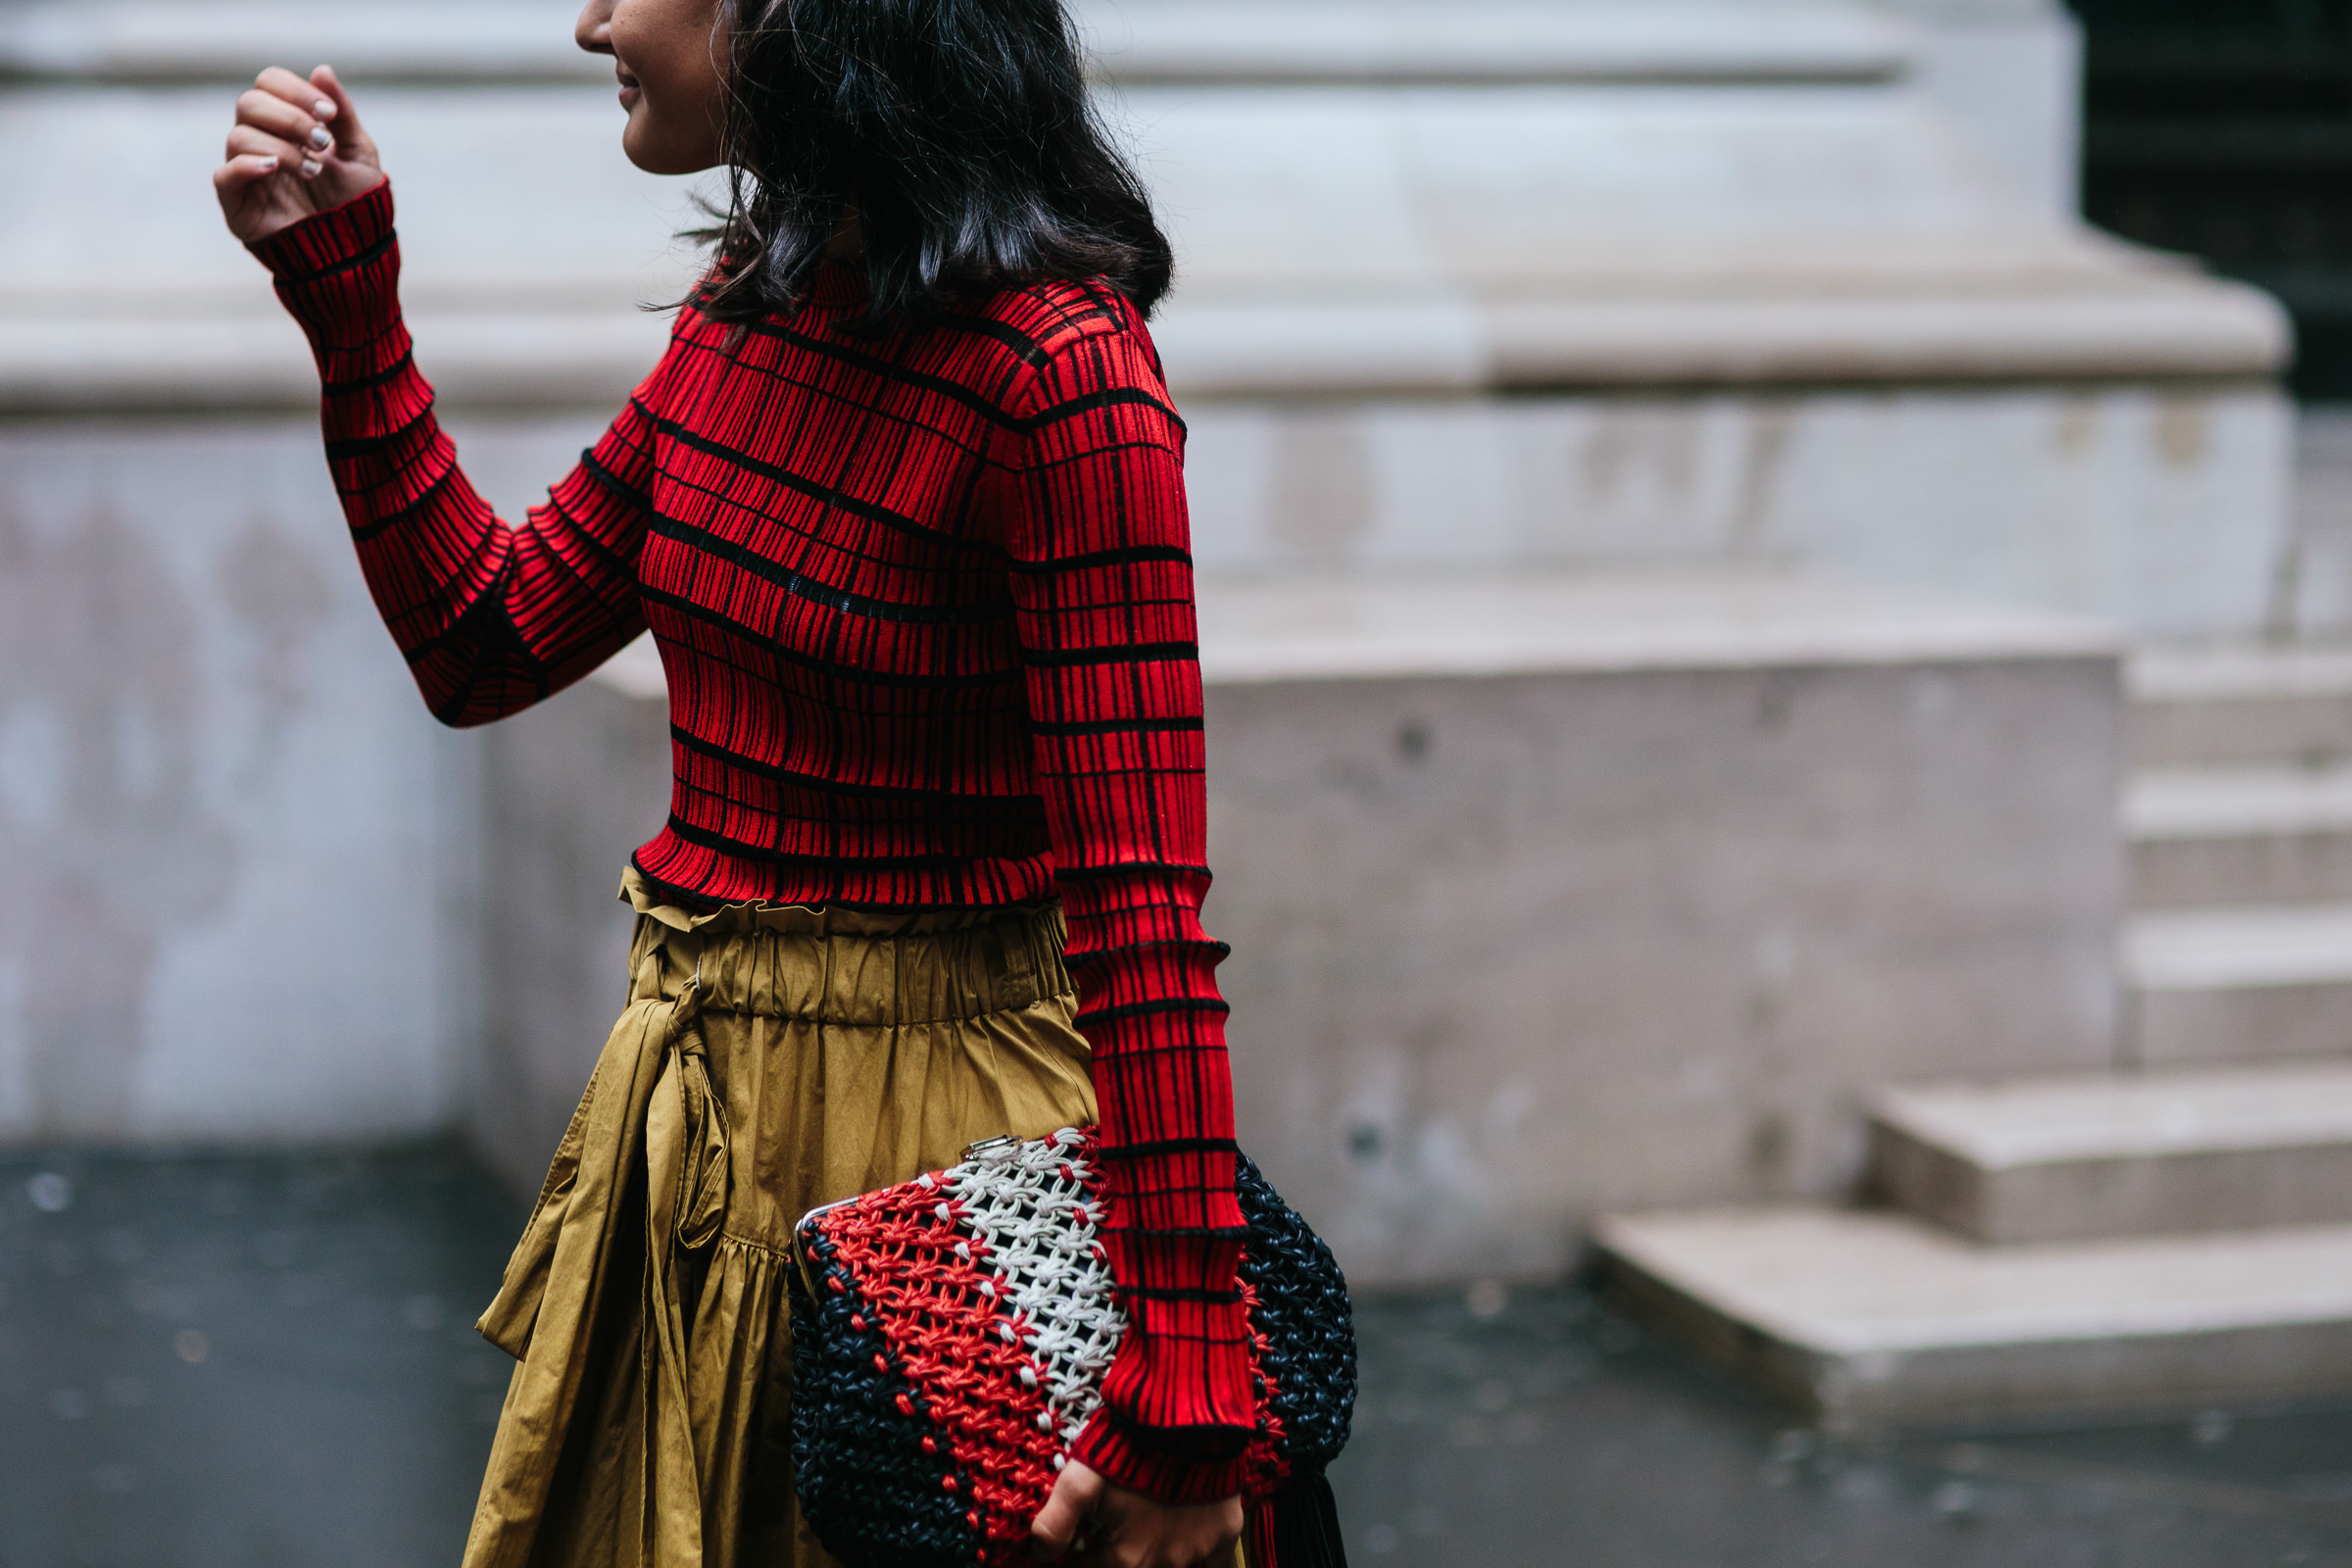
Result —
[{"label": "gathered elastic waistband of the olive-mustard skirt", "polygon": [[1058,903],[1002,910],[811,910],[729,905],[713,914],[637,907],[630,999],[675,999],[701,976],[701,1009],[854,1027],[981,1018],[1070,990]]}]

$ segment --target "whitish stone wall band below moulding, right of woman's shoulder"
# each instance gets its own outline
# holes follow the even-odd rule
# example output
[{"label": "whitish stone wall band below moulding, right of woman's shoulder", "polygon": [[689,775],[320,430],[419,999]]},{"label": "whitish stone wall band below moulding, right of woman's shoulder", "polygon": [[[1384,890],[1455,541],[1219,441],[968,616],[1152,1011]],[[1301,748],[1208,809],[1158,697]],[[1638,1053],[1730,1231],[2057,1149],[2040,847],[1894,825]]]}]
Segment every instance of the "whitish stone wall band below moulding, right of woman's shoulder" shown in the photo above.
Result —
[{"label": "whitish stone wall band below moulding, right of woman's shoulder", "polygon": [[[2145,635],[2291,618],[2291,409],[2129,386],[1385,402],[1200,400],[1188,482],[1216,571],[1837,571],[2096,614]],[[2305,623],[2343,623],[2307,531]]]}]

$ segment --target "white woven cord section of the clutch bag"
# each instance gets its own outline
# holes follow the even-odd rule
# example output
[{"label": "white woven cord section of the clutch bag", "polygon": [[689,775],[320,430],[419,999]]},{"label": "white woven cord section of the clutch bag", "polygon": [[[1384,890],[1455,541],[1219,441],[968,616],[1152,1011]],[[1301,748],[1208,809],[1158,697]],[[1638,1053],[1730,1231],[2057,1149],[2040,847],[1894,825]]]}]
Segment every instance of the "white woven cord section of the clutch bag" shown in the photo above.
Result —
[{"label": "white woven cord section of the clutch bag", "polygon": [[941,1171],[981,1244],[976,1262],[997,1284],[997,1333],[1028,1345],[1049,1410],[1040,1420],[1054,1422],[1065,1450],[1103,1403],[1103,1373],[1127,1338],[1096,1239],[1084,1145],[1080,1131],[1063,1128]]}]

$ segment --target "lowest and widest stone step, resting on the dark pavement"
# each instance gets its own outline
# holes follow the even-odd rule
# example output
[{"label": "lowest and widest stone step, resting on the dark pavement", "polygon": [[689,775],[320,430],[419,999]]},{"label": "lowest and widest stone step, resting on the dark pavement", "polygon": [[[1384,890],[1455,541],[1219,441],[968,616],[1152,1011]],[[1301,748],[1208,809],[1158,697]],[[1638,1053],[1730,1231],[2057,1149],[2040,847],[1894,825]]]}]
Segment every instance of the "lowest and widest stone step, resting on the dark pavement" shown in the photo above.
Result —
[{"label": "lowest and widest stone step, resting on the dark pavement", "polygon": [[1898,1213],[1621,1215],[1611,1302],[1837,1429],[2352,1389],[2352,1227],[1987,1248]]}]

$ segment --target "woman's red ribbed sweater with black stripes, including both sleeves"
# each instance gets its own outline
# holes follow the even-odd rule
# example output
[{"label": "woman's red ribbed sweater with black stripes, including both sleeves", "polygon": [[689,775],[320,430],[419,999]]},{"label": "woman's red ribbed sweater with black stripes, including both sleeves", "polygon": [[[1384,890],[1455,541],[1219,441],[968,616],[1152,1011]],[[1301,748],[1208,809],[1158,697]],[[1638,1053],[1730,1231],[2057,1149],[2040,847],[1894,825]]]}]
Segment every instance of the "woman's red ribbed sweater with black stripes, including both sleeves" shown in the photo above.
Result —
[{"label": "woman's red ribbed sweater with black stripes, including both sleeves", "polygon": [[861,280],[828,266],[741,331],[684,308],[508,527],[409,357],[390,186],[254,252],[310,336],[360,567],[442,722],[529,708],[652,628],[675,788],[635,867],[661,896],[1063,900],[1134,1324],[1077,1453],[1164,1500],[1240,1490],[1183,423],[1134,306],[1044,282],[856,336]]}]

